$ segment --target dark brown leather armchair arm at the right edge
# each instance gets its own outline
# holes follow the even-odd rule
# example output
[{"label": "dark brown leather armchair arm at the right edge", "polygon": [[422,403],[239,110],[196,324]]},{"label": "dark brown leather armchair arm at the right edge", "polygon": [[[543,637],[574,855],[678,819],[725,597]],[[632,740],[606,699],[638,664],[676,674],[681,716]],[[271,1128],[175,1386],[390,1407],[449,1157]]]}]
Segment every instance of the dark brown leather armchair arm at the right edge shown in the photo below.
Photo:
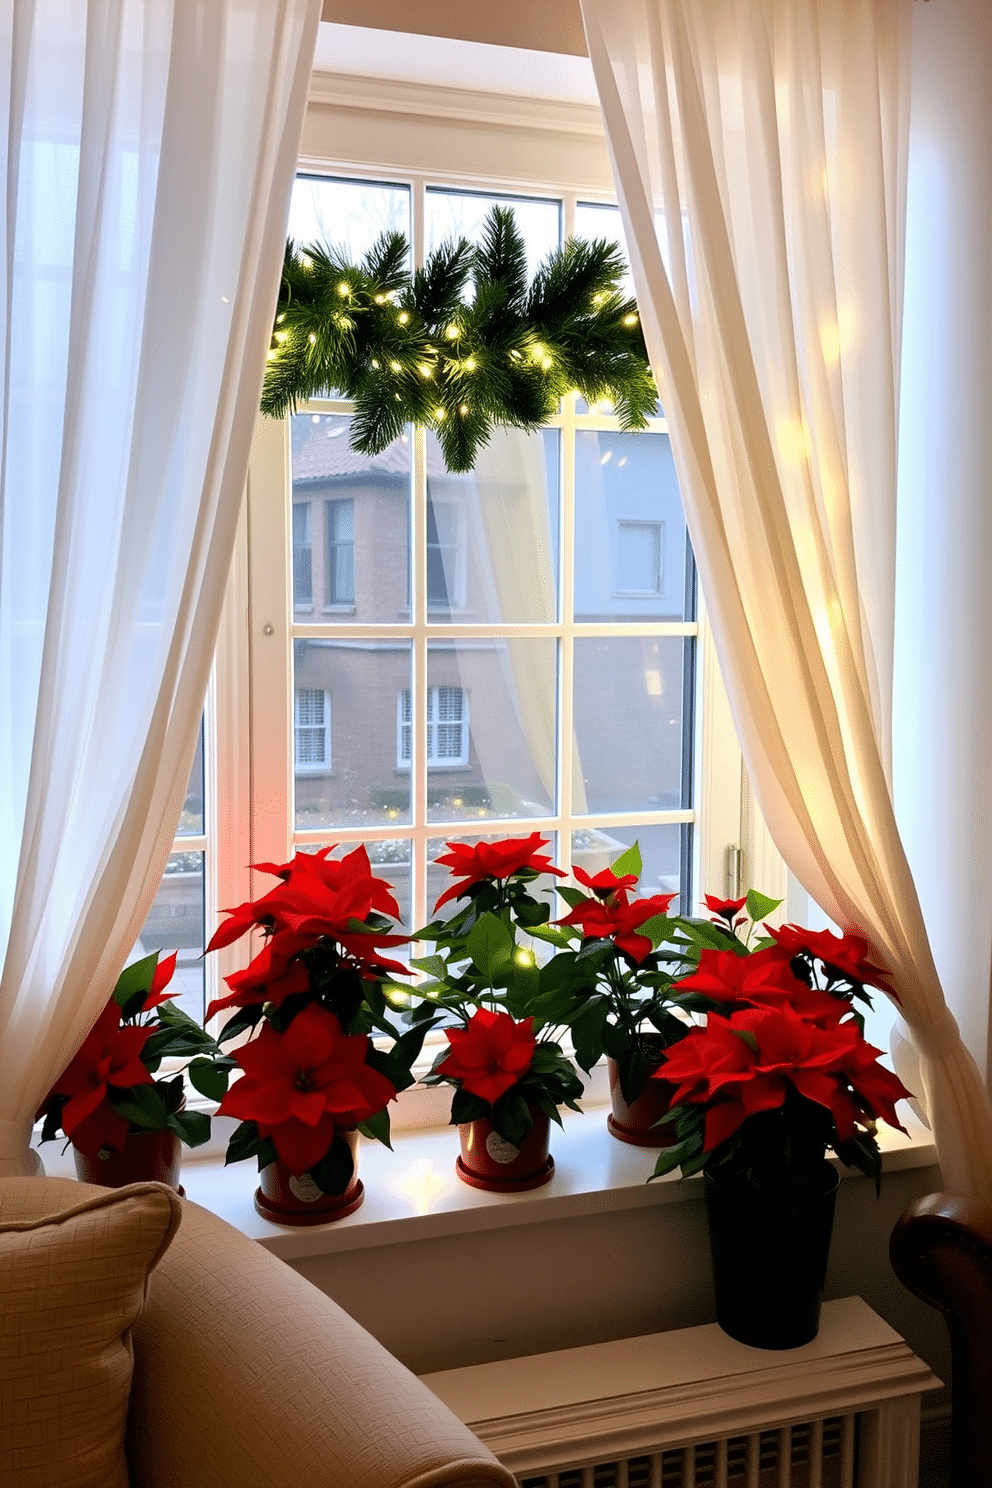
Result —
[{"label": "dark brown leather armchair arm at the right edge", "polygon": [[928,1193],[895,1225],[889,1256],[900,1281],[947,1323],[950,1488],[992,1484],[992,1210]]}]

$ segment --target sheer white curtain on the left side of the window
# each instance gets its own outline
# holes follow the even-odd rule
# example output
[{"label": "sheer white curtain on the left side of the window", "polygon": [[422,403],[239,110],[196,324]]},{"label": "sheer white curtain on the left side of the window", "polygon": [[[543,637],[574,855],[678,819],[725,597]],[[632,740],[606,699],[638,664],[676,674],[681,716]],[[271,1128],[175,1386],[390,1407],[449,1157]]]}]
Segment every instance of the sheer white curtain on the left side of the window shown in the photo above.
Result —
[{"label": "sheer white curtain on the left side of the window", "polygon": [[0,1173],[165,866],[320,0],[6,0]]}]

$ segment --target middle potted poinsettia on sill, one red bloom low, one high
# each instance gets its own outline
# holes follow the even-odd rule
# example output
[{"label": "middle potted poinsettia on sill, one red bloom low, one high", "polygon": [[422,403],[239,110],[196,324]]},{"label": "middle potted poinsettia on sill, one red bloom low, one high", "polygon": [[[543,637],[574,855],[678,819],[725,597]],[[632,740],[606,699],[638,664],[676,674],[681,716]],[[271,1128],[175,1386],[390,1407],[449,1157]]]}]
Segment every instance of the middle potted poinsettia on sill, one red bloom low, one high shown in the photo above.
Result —
[{"label": "middle potted poinsettia on sill, one red bloom low, one high", "polygon": [[507,1192],[547,1183],[549,1122],[559,1107],[577,1110],[582,1080],[562,1052],[556,1030],[574,1009],[570,978],[552,958],[540,966],[525,939],[546,926],[550,905],[529,888],[543,873],[561,876],[541,848],[540,832],[501,842],[449,842],[437,859],[455,882],[434,909],[466,903],[449,920],[433,920],[415,939],[434,952],[413,960],[430,982],[416,991],[415,1022],[437,1012],[455,1019],[425,1083],[451,1083],[451,1120],[458,1126],[458,1177],[474,1187]]}]

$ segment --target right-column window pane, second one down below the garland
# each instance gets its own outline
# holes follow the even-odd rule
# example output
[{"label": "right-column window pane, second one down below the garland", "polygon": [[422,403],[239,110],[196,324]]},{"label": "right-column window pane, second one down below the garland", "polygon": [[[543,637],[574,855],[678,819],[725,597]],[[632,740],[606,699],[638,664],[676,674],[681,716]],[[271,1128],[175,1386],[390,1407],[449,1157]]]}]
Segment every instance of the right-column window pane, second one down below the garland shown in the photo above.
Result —
[{"label": "right-column window pane, second one down below the garland", "polygon": [[684,644],[680,635],[576,641],[574,811],[683,805]]}]

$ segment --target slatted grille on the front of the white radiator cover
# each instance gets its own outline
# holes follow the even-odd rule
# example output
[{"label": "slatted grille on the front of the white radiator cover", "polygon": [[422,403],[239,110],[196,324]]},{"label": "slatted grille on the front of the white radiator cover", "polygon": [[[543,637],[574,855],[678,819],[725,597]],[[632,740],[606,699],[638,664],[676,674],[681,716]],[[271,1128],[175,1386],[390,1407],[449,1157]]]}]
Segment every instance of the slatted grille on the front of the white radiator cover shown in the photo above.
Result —
[{"label": "slatted grille on the front of the white radiator cover", "polygon": [[528,1473],[521,1488],[857,1488],[857,1417],[695,1442],[648,1457]]}]

